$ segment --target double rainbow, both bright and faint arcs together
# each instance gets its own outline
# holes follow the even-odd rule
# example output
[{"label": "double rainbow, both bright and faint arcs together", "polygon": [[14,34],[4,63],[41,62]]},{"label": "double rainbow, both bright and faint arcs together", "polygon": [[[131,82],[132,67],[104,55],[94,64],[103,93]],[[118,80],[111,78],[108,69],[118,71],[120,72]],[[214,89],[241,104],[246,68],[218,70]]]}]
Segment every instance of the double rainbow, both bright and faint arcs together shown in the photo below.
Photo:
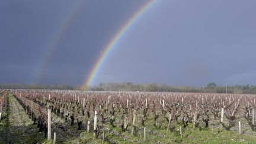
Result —
[{"label": "double rainbow, both bright and faint arcs together", "polygon": [[[51,57],[53,56],[53,53],[57,49],[57,46],[61,42],[62,37],[65,35],[66,30],[68,29],[69,25],[72,23],[73,18],[78,13],[79,9],[82,8],[84,0],[77,1],[75,6],[72,7],[70,10],[68,16],[63,21],[62,25],[60,25],[59,29],[57,29],[56,33],[53,34],[52,41],[47,45],[46,53],[43,56],[43,59],[41,60],[41,63],[39,64],[39,68],[36,69],[36,74],[34,76],[34,83],[38,83],[40,81],[41,75],[43,75],[43,72],[46,69],[47,64],[50,62]],[[95,62],[94,66],[92,67],[91,71],[89,72],[89,75],[84,82],[84,86],[89,86],[94,81],[95,77],[100,72],[100,68],[102,67],[106,57],[110,54],[111,50],[116,46],[116,44],[119,42],[119,40],[124,37],[125,33],[129,28],[132,27],[132,25],[135,23],[136,20],[138,20],[141,15],[149,9],[152,4],[155,2],[155,0],[149,0],[146,2],[135,14],[132,15],[132,17],[117,31],[117,33],[114,35],[113,39],[107,44],[107,46],[104,49],[104,52],[102,55],[98,58],[98,60]]]}]

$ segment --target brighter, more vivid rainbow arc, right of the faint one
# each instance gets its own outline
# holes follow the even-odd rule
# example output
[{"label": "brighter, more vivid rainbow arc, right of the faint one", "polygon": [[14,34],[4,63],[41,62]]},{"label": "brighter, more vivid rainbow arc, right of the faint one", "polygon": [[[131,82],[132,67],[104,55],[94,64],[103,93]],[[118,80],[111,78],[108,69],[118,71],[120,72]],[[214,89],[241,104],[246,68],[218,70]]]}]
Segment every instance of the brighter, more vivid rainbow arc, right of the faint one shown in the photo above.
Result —
[{"label": "brighter, more vivid rainbow arc, right of the faint one", "polygon": [[97,60],[95,65],[93,66],[92,70],[89,72],[89,76],[87,80],[84,82],[84,86],[88,87],[92,84],[94,81],[95,76],[97,76],[98,72],[100,71],[101,66],[104,63],[104,60],[109,55],[110,51],[116,46],[117,42],[121,39],[121,37],[124,36],[124,33],[135,23],[135,21],[140,17],[140,15],[143,14],[151,5],[155,2],[154,0],[150,0],[149,2],[146,2],[142,6],[142,8],[139,9],[128,21],[123,25],[123,27],[120,28],[119,31],[117,31],[116,35],[111,39],[111,41],[107,44],[107,47],[105,47],[104,52],[101,54],[100,58]]}]

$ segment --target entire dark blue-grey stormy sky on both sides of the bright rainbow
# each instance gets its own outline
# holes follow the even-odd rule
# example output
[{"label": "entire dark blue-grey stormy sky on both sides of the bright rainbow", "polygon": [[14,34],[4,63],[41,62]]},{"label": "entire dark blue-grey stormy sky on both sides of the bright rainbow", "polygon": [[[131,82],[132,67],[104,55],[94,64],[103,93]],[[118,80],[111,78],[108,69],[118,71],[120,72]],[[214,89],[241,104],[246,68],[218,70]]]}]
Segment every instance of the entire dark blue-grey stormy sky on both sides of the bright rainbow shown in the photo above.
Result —
[{"label": "entire dark blue-grey stormy sky on both sides of the bright rainbow", "polygon": [[[148,1],[0,0],[0,84],[82,85]],[[153,2],[91,85],[256,85],[256,1]]]}]

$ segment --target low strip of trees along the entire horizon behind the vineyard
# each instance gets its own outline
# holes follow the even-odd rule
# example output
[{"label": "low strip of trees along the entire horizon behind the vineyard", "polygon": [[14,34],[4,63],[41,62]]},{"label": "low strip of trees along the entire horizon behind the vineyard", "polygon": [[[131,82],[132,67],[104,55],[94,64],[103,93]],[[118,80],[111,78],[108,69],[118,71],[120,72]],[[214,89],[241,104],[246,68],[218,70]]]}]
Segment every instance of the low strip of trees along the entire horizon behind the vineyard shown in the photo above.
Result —
[{"label": "low strip of trees along the entire horizon behind the vineyard", "polygon": [[160,84],[133,84],[133,82],[100,83],[94,86],[72,85],[28,85],[28,84],[0,84],[0,89],[63,89],[63,90],[90,90],[90,91],[151,91],[151,92],[207,92],[229,94],[256,94],[254,85],[216,85],[209,82],[205,87],[171,86]]}]

